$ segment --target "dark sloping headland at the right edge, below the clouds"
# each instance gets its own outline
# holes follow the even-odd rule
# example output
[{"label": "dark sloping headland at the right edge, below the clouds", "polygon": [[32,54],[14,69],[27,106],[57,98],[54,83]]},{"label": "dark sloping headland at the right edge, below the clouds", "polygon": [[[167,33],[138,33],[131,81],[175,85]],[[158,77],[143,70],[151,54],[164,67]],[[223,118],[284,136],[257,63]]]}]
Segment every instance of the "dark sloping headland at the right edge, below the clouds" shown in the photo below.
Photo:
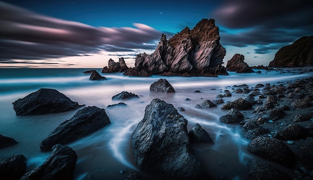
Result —
[{"label": "dark sloping headland at the right edge, below the clouds", "polygon": [[303,36],[280,48],[268,67],[313,66],[313,35]]}]

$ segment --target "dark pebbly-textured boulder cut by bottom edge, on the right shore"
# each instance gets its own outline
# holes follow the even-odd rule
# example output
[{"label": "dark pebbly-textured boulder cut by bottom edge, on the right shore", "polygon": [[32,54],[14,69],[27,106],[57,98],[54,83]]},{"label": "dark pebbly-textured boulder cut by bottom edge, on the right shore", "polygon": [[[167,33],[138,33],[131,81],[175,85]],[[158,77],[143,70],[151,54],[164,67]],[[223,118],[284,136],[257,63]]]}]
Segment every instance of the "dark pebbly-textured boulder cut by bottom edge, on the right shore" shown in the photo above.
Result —
[{"label": "dark pebbly-textured boulder cut by bottom edge, on the right shore", "polygon": [[285,173],[258,160],[248,162],[250,180],[291,180]]}]

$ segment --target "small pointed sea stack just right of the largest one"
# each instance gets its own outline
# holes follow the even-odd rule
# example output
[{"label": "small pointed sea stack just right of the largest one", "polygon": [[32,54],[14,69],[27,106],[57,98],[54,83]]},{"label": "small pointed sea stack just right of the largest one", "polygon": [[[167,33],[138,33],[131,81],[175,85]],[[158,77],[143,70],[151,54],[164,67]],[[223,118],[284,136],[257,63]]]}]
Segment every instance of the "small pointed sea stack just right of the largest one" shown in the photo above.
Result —
[{"label": "small pointed sea stack just right of the largest one", "polygon": [[227,71],[235,71],[236,73],[250,73],[254,72],[247,63],[244,62],[244,55],[235,54],[227,61]]}]

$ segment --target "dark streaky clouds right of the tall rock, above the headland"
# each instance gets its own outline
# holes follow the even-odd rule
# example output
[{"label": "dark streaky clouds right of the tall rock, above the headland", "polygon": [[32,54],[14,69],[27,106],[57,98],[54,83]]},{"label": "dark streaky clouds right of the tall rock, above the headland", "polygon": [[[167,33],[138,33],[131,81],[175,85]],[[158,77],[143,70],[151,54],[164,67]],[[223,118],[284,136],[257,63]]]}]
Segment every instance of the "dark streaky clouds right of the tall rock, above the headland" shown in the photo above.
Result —
[{"label": "dark streaky clouds right of the tall rock, above the headland", "polygon": [[226,0],[212,16],[228,29],[220,31],[222,45],[255,45],[255,53],[264,54],[312,35],[312,6],[307,0]]}]

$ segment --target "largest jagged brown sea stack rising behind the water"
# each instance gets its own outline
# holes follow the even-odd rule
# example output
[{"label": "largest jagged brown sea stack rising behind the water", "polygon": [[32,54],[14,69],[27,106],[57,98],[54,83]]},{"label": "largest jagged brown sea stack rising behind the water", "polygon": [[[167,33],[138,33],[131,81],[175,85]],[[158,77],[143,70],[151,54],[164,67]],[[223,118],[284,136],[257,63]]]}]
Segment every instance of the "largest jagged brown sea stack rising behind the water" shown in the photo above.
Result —
[{"label": "largest jagged brown sea stack rising behind the water", "polygon": [[169,40],[162,34],[155,51],[150,55],[138,54],[135,67],[124,74],[136,75],[135,71],[138,75],[228,75],[221,66],[225,49],[219,39],[214,19],[202,19],[192,30],[185,27]]}]

